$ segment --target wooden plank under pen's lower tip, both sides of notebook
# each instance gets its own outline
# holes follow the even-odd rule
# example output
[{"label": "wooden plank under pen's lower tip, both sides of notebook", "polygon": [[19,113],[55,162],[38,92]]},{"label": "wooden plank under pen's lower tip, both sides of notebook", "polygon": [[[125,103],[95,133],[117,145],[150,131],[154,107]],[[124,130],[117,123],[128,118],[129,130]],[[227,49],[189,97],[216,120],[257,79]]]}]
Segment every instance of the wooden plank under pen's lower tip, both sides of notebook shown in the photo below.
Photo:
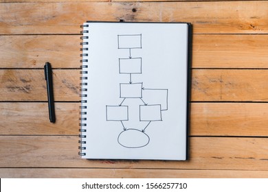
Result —
[{"label": "wooden plank under pen's lower tip, both sides of notebook", "polygon": [[[80,104],[55,106],[57,121],[50,123],[47,103],[0,103],[0,134],[78,135]],[[267,104],[192,103],[190,111],[191,136],[268,136]]]}]

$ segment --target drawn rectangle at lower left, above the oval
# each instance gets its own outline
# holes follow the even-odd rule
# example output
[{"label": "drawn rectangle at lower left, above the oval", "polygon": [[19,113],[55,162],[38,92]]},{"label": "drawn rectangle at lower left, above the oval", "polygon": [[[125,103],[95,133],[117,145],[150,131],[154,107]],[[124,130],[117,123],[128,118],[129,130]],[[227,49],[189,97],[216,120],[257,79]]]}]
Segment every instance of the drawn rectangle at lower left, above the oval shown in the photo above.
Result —
[{"label": "drawn rectangle at lower left, above the oval", "polygon": [[106,106],[107,121],[129,121],[129,106]]}]

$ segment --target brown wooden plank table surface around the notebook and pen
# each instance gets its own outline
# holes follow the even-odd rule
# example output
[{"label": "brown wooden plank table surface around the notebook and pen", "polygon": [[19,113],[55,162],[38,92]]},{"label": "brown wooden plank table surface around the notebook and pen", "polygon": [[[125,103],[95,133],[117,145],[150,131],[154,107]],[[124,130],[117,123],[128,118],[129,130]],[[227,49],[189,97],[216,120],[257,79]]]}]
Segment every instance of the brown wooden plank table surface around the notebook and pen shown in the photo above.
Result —
[{"label": "brown wooden plank table surface around the notebook and pen", "polygon": [[[1,178],[268,177],[268,1],[6,1]],[[193,24],[187,162],[78,156],[79,25],[120,19]],[[54,68],[55,124],[48,119],[46,61]]]}]

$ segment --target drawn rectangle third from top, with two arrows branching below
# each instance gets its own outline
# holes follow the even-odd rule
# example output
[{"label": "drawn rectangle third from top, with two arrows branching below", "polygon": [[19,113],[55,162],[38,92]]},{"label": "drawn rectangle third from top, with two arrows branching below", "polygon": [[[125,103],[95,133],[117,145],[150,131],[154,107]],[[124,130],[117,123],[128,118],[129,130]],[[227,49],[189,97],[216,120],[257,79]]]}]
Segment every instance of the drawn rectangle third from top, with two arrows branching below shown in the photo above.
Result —
[{"label": "drawn rectangle third from top, with two arrows branching below", "polygon": [[142,98],[142,83],[120,84],[120,98]]}]

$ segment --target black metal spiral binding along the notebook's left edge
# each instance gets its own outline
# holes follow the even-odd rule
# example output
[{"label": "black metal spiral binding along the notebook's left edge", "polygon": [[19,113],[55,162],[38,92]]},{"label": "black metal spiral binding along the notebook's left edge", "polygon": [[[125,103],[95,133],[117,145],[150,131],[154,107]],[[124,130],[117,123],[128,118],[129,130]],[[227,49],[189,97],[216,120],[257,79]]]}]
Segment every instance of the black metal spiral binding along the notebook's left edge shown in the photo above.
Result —
[{"label": "black metal spiral binding along the notebook's left edge", "polygon": [[[89,27],[89,25],[80,25],[81,28],[84,28],[84,27]],[[82,35],[80,37],[81,40],[87,40],[89,39],[89,36],[85,36],[85,34],[88,34],[89,33],[89,30],[85,30],[83,29],[82,31],[80,31],[80,34]],[[88,42],[81,42],[80,45],[84,46],[84,45],[89,45]],[[87,47],[82,47],[80,48],[80,51],[88,51],[89,49]],[[86,64],[88,62],[87,59],[84,59],[84,57],[87,57],[89,56],[88,53],[81,53],[80,54],[80,57],[82,57],[82,59],[80,60],[80,62],[82,62],[82,65],[80,66],[80,74],[81,74],[81,77],[80,77],[80,80],[87,80],[87,77],[85,77],[84,75],[87,74],[87,71],[85,71],[85,69],[88,68],[88,65]],[[81,109],[81,111],[79,112],[80,114],[80,118],[79,118],[79,126],[80,126],[80,129],[79,129],[79,138],[80,140],[78,141],[78,143],[80,143],[80,146],[78,147],[78,149],[80,149],[80,152],[78,152],[78,155],[80,156],[85,156],[86,153],[85,152],[82,152],[82,150],[85,150],[87,147],[83,146],[83,144],[86,144],[87,141],[82,141],[83,138],[87,138],[87,135],[85,135],[85,132],[87,132],[87,130],[85,129],[85,127],[87,126],[87,123],[85,123],[84,121],[87,121],[87,117],[84,117],[83,115],[87,115],[87,112],[84,111],[87,106],[83,106],[83,104],[87,103],[87,99],[85,97],[87,97],[87,94],[85,94],[85,92],[87,91],[87,88],[83,87],[83,86],[87,86],[87,83],[85,82],[80,82],[80,86],[82,86],[80,88],[80,97],[81,97],[81,106],[79,107]]]}]

